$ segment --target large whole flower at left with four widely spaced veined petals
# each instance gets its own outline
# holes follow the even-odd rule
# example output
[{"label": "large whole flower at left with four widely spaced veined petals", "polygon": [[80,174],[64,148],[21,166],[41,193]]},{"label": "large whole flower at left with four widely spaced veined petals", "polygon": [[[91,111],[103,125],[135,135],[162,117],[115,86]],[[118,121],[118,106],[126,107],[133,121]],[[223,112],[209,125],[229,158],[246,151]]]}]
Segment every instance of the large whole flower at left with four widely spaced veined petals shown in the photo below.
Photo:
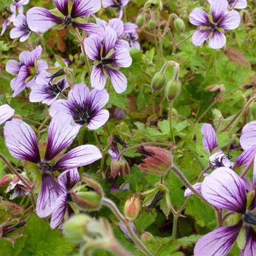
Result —
[{"label": "large whole flower at left with four widely spaced veined petals", "polygon": [[53,172],[77,168],[101,158],[101,153],[94,145],[77,146],[68,153],[58,156],[72,144],[79,128],[72,117],[63,113],[56,115],[49,125],[47,148],[44,158],[41,159],[36,135],[27,123],[12,119],[4,126],[5,142],[10,154],[17,159],[37,164],[41,171],[41,189],[36,204],[36,213],[41,218],[51,214],[57,198],[65,193],[53,179]]}]

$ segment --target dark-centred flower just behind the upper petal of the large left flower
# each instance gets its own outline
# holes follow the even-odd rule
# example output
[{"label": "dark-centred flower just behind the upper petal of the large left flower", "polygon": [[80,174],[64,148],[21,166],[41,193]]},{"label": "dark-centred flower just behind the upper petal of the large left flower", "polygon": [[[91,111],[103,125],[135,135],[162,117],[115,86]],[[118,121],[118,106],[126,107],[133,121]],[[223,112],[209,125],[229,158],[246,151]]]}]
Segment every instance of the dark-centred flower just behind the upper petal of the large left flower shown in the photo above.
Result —
[{"label": "dark-centred flower just behind the upper petal of the large left flower", "polygon": [[96,130],[108,121],[108,110],[102,110],[108,103],[109,94],[106,90],[93,89],[92,91],[83,84],[75,84],[69,92],[69,99],[58,99],[50,108],[50,115],[58,112],[70,115],[79,125],[86,124],[91,130]]}]

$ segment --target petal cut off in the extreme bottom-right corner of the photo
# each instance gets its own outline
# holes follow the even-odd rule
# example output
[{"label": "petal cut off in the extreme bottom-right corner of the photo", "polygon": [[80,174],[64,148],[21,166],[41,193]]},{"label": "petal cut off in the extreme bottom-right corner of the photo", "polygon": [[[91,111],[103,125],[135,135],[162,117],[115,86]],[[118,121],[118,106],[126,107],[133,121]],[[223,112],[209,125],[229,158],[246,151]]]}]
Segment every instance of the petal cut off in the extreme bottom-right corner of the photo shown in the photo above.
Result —
[{"label": "petal cut off in the extreme bottom-right corner of the photo", "polygon": [[240,256],[256,255],[256,231],[251,226],[246,226],[246,244],[241,250]]}]

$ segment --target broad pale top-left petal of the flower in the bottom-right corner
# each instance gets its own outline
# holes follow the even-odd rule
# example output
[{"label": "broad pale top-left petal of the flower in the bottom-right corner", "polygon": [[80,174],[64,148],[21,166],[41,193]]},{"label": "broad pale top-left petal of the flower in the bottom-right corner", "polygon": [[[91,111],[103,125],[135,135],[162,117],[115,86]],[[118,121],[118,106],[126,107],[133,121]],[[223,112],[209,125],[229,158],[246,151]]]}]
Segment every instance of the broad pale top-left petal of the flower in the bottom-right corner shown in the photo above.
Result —
[{"label": "broad pale top-left petal of the flower in the bottom-right corner", "polygon": [[244,181],[229,168],[219,167],[205,177],[201,193],[215,207],[245,213],[247,199]]}]

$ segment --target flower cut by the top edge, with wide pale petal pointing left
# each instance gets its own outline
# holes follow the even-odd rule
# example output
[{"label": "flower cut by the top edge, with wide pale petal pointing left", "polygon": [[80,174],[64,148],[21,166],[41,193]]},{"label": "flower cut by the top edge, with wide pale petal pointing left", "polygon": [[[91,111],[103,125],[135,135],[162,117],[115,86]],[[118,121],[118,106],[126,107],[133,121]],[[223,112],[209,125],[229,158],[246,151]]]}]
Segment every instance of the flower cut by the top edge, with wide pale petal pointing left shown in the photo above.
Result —
[{"label": "flower cut by the top edge, with wide pale petal pointing left", "polygon": [[28,25],[32,31],[44,33],[54,25],[63,25],[65,28],[73,26],[85,30],[89,34],[103,33],[96,24],[81,21],[81,17],[90,16],[100,9],[100,0],[74,0],[70,13],[69,0],[53,0],[53,3],[60,12],[58,15],[41,7],[33,7],[27,12]]}]

